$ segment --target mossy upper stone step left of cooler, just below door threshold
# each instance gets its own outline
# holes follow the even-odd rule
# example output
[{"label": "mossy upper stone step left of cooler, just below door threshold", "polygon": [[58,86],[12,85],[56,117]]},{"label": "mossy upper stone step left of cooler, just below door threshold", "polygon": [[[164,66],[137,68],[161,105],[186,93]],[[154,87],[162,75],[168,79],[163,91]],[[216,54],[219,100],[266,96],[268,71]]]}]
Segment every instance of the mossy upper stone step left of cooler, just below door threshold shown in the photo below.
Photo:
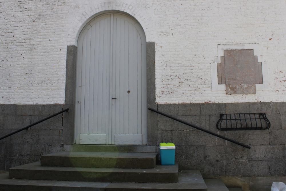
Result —
[{"label": "mossy upper stone step left of cooler, just below door threshold", "polygon": [[42,155],[41,166],[86,168],[155,168],[156,153],[62,151]]}]

